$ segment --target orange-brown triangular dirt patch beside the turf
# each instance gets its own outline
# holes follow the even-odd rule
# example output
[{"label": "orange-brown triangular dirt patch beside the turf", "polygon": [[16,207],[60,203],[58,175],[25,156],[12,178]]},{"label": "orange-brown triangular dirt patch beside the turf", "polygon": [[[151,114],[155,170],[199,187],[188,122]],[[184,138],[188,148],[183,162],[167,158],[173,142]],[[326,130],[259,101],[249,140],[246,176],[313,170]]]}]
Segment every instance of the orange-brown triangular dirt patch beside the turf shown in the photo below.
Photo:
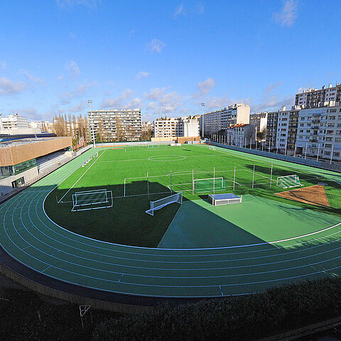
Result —
[{"label": "orange-brown triangular dirt patch beside the turf", "polygon": [[322,185],[287,190],[286,192],[275,193],[275,195],[289,200],[305,202],[305,204],[330,207],[325,188]]}]

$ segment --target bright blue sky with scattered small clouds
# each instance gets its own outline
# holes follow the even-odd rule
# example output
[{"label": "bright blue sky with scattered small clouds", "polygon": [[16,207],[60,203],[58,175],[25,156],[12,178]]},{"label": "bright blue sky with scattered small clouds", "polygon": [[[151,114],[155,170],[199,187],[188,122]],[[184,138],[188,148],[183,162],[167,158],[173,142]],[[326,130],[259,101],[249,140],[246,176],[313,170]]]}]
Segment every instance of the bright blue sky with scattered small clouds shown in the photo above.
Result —
[{"label": "bright blue sky with scattered small clouds", "polygon": [[[143,120],[291,106],[341,82],[341,1],[6,0],[0,113],[141,107]],[[147,116],[148,115],[148,116]]]}]

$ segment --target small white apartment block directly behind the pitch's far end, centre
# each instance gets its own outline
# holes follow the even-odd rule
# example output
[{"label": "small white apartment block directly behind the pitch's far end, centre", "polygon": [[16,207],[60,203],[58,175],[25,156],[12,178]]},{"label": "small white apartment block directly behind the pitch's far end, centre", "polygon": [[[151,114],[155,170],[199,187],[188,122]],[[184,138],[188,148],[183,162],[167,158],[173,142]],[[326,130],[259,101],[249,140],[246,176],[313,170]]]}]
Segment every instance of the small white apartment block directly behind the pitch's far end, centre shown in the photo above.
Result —
[{"label": "small white apartment block directly behind the pitch's far end, centre", "polygon": [[200,136],[199,121],[187,117],[156,119],[155,137],[194,137]]}]

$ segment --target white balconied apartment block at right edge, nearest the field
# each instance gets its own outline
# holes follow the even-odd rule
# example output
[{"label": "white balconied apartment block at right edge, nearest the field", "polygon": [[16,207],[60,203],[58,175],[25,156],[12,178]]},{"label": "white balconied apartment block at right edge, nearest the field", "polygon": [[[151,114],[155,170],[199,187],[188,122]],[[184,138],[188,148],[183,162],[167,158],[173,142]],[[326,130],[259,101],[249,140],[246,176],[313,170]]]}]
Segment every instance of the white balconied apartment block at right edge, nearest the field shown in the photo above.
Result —
[{"label": "white balconied apartment block at right edge, nearest the field", "polygon": [[341,106],[301,109],[297,153],[341,160]]}]

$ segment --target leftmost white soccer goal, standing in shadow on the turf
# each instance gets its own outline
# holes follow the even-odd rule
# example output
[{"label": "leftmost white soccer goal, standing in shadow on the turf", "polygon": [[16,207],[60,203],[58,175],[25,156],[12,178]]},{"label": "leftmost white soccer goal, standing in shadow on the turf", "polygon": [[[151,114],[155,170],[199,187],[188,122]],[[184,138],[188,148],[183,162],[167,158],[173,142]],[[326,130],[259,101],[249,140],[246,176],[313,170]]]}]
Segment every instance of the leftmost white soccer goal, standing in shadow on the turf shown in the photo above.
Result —
[{"label": "leftmost white soccer goal, standing in shadow on the turf", "polygon": [[72,194],[72,212],[112,207],[112,191],[83,190]]}]

